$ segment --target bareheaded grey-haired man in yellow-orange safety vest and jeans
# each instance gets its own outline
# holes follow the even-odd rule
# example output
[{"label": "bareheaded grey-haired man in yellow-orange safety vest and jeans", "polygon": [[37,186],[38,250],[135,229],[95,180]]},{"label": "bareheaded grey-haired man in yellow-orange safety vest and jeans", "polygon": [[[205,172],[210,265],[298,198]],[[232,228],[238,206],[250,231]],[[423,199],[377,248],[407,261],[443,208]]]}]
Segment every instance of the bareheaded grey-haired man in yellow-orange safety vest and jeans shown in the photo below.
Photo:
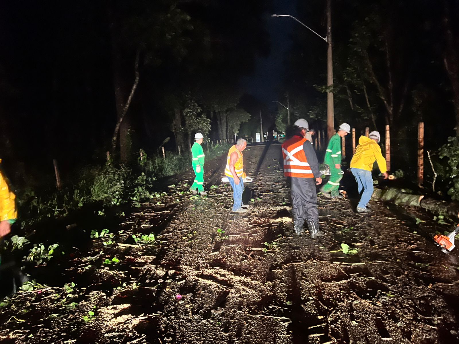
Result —
[{"label": "bareheaded grey-haired man in yellow-orange safety vest and jeans", "polygon": [[244,161],[242,160],[242,151],[246,149],[247,141],[245,139],[237,140],[236,144],[228,151],[228,157],[225,167],[225,175],[233,187],[233,212],[245,213],[248,205],[242,204],[242,193],[244,192]]}]

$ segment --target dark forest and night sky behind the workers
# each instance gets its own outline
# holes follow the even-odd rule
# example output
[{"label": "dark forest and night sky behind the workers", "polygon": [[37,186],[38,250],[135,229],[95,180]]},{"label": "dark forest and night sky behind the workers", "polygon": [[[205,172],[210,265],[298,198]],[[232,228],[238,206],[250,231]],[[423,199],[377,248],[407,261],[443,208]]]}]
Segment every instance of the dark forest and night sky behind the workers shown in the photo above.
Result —
[{"label": "dark forest and night sky behind the workers", "polygon": [[[254,137],[260,111],[265,131],[282,131],[271,100],[287,93],[292,121],[325,128],[326,44],[276,12],[325,36],[324,0],[3,1],[4,169],[24,183],[52,159],[65,174],[107,150],[124,162],[163,143],[185,152],[197,130]],[[333,0],[335,125],[390,124],[403,140],[423,121],[428,150],[456,135],[458,13],[453,0]]]}]

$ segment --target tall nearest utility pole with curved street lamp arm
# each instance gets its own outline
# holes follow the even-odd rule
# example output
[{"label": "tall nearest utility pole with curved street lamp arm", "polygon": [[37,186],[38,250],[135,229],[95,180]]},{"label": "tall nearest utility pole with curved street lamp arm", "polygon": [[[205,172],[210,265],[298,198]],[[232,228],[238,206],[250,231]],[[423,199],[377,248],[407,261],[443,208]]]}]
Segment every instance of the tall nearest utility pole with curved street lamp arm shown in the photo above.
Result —
[{"label": "tall nearest utility pole with curved street lamp arm", "polygon": [[[333,92],[330,91],[330,88],[333,86],[333,58],[331,50],[331,0],[327,0],[327,37],[322,37],[319,33],[315,32],[312,28],[309,28],[304,23],[300,22],[297,18],[289,16],[287,14],[273,14],[271,17],[290,17],[297,22],[299,22],[305,28],[315,33],[321,39],[325,40],[328,43],[327,49],[327,86],[329,90],[327,91],[327,136],[330,139],[335,133],[335,119],[334,119],[334,108],[333,108]],[[289,121],[290,122],[290,121]]]}]

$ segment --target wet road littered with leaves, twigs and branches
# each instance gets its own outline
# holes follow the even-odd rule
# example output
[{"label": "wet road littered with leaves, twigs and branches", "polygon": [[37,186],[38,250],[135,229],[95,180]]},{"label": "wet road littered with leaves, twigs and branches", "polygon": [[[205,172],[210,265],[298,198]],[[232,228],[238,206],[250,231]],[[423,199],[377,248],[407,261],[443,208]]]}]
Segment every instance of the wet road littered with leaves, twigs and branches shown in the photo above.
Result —
[{"label": "wet road littered with leaves, twigs and branches", "polygon": [[[206,164],[207,197],[180,176],[111,225],[112,243],[81,241],[34,268],[34,288],[1,303],[1,343],[459,343],[459,250],[431,240],[452,224],[375,202],[362,216],[319,195],[326,235],[297,237],[280,145],[248,148],[249,212],[228,210],[225,156]],[[76,226],[63,230],[94,229]]]}]

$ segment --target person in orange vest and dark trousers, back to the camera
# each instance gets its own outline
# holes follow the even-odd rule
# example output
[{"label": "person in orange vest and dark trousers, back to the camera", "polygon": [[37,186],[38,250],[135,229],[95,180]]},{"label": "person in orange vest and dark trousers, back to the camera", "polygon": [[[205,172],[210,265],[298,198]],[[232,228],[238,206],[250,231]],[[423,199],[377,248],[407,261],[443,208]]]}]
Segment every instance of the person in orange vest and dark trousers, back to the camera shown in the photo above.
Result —
[{"label": "person in orange vest and dark trousers, back to the camera", "polygon": [[319,230],[316,184],[322,183],[319,162],[313,144],[306,139],[308,121],[300,118],[295,122],[295,134],[282,144],[284,175],[291,178],[291,212],[295,233],[304,233],[308,222],[311,238],[324,235]]}]

